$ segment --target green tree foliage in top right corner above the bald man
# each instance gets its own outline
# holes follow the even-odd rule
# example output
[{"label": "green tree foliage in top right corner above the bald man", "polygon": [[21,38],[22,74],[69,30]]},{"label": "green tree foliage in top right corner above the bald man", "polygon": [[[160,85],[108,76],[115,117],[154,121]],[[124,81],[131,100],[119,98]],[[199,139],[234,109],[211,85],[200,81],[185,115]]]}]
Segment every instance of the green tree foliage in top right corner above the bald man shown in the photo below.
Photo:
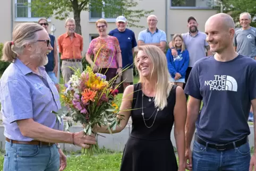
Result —
[{"label": "green tree foliage in top right corner above the bald man", "polygon": [[[251,14],[251,26],[256,27],[256,1],[255,0],[222,0],[223,12],[228,13],[234,19],[234,22],[239,22],[240,14],[248,12]],[[220,7],[220,4],[217,5]],[[254,19],[254,20],[253,20]],[[240,27],[238,24],[237,27]]]}]

